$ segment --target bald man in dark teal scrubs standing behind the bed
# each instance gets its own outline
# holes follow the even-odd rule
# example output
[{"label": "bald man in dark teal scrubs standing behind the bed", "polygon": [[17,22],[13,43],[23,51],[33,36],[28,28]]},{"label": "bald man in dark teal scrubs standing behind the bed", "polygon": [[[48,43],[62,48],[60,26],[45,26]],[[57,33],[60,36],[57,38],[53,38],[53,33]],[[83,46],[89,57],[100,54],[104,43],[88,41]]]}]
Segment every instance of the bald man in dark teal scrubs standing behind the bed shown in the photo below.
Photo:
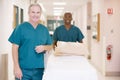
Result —
[{"label": "bald man in dark teal scrubs standing behind the bed", "polygon": [[65,13],[64,14],[64,25],[61,25],[56,28],[54,34],[53,34],[53,40],[54,40],[54,47],[56,46],[57,41],[65,41],[65,42],[80,42],[82,43],[82,39],[84,38],[84,35],[80,31],[78,27],[75,25],[71,25],[72,21],[72,14],[71,13]]}]

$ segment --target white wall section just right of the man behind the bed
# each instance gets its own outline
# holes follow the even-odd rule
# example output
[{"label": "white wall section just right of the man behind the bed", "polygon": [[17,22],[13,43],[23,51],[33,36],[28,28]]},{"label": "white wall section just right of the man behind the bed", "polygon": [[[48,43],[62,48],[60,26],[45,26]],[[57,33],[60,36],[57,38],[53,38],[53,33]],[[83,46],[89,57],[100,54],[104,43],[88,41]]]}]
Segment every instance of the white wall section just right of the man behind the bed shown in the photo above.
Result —
[{"label": "white wall section just right of the man behind the bed", "polygon": [[87,4],[81,5],[73,13],[73,20],[75,21],[75,26],[79,27],[85,36],[83,42],[87,45]]}]

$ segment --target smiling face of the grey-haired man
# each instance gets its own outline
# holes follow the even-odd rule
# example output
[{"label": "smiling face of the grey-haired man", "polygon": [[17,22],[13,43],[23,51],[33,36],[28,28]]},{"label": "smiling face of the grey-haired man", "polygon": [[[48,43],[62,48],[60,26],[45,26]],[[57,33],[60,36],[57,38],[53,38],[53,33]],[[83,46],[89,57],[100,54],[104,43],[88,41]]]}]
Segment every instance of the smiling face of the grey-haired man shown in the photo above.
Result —
[{"label": "smiling face of the grey-haired man", "polygon": [[41,16],[41,10],[39,6],[32,6],[29,10],[29,19],[32,22],[38,22]]}]

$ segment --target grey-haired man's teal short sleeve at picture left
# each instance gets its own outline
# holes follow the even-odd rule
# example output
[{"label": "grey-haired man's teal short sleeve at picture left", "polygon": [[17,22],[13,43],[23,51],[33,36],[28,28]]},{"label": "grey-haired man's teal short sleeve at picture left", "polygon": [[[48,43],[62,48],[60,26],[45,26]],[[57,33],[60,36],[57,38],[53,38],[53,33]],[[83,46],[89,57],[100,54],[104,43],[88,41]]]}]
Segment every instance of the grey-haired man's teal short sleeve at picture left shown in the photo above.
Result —
[{"label": "grey-haired man's teal short sleeve at picture left", "polygon": [[20,45],[20,38],[21,38],[21,30],[20,26],[16,27],[12,34],[10,35],[8,41],[17,45]]}]

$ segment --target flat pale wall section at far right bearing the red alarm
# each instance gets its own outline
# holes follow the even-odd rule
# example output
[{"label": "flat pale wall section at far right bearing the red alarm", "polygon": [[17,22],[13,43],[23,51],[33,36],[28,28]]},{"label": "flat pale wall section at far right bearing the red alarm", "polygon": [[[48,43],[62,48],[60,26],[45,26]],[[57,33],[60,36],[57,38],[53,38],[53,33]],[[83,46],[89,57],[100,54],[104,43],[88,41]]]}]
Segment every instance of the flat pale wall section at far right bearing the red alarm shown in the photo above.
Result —
[{"label": "flat pale wall section at far right bearing the red alarm", "polygon": [[[104,1],[104,35],[106,45],[113,45],[111,61],[106,61],[107,72],[120,72],[120,0]],[[106,14],[108,8],[113,8],[113,14]]]}]

